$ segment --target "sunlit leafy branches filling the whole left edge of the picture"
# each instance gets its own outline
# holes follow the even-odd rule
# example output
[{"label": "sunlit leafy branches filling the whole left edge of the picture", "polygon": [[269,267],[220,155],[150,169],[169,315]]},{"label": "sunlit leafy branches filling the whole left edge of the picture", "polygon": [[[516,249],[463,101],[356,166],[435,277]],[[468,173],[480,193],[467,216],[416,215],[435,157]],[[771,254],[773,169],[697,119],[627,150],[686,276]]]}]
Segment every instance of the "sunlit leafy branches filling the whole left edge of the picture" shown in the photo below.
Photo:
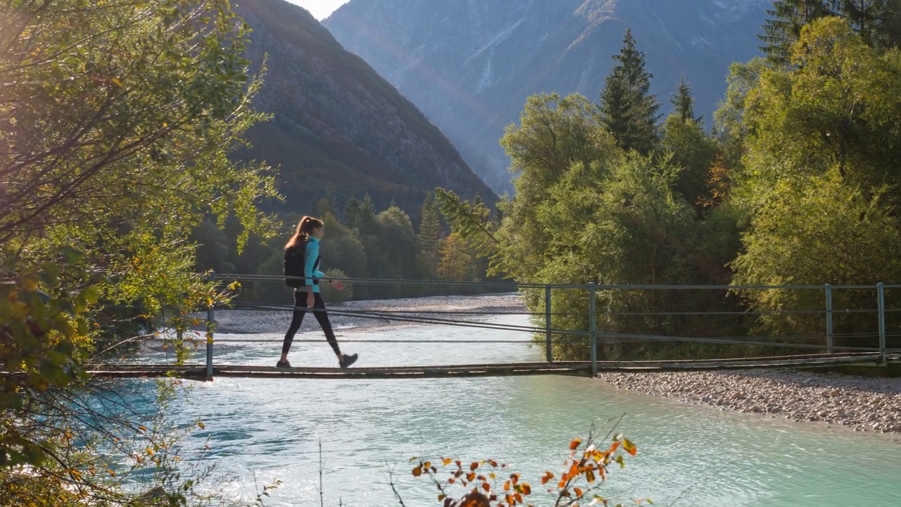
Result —
[{"label": "sunlit leafy branches filling the whole left edge of the picture", "polygon": [[235,286],[196,272],[192,231],[215,246],[232,227],[238,251],[272,232],[256,207],[278,197],[268,168],[230,159],[265,119],[246,27],[226,0],[25,0],[0,21],[0,498],[149,504],[123,485],[140,475],[168,505],[212,502],[172,451],[181,432],[96,410],[108,392],[83,373],[227,301]]}]

